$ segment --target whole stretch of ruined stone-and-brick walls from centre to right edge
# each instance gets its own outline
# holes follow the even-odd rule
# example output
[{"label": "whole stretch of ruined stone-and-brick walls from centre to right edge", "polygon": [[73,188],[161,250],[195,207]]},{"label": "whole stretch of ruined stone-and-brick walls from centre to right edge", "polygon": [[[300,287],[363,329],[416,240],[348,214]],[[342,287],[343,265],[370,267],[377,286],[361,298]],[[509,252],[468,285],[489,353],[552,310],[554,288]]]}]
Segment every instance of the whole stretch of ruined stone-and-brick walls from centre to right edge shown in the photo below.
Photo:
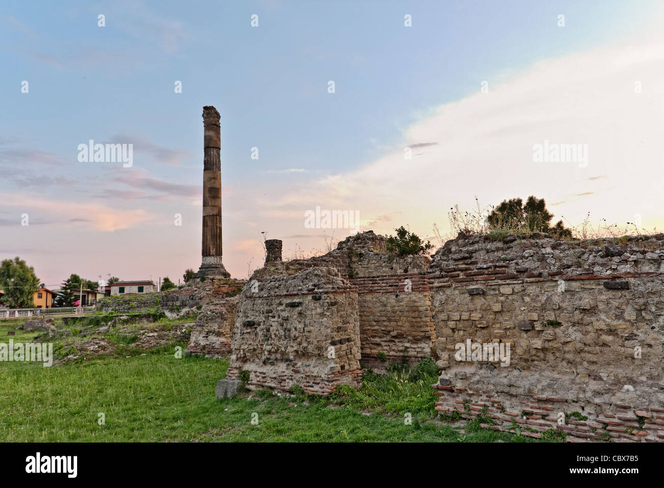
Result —
[{"label": "whole stretch of ruined stone-and-brick walls from centre to right edge", "polygon": [[433,258],[392,256],[385,240],[363,232],[257,270],[220,315],[227,379],[329,394],[359,386],[360,364],[430,357],[443,414],[533,437],[664,440],[664,234],[459,234]]}]

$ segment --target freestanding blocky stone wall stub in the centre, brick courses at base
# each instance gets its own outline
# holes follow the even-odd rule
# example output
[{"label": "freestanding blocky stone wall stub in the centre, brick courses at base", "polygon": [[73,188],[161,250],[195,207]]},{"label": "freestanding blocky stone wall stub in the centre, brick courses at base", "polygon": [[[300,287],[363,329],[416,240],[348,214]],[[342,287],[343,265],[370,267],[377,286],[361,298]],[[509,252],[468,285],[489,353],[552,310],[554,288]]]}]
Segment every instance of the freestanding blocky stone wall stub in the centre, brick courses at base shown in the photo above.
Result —
[{"label": "freestanding blocky stone wall stub in the centre, brick courses at base", "polygon": [[357,289],[335,268],[309,268],[245,285],[226,378],[250,389],[328,394],[361,378]]}]

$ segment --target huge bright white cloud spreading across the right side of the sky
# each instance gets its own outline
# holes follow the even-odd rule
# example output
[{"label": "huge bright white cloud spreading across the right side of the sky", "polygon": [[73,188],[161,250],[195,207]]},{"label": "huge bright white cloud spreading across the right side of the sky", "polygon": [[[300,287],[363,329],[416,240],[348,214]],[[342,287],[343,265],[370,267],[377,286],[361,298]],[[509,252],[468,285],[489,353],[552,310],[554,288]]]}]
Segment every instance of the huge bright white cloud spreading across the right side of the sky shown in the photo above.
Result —
[{"label": "huge bright white cloud spreading across the right side of the sky", "polygon": [[[588,210],[616,221],[635,212],[661,219],[652,198],[661,182],[646,175],[661,173],[664,37],[617,42],[542,60],[501,82],[489,78],[489,93],[477,90],[403,128],[404,140],[427,141],[420,157],[404,159],[406,144],[395,144],[354,171],[293,184],[288,195],[260,203],[270,208],[263,215],[296,216],[317,204],[361,215],[400,211],[403,222],[424,233],[453,204],[473,206],[474,195],[483,206],[536,195],[572,222]],[[587,144],[587,165],[535,163],[533,146],[544,141]],[[588,191],[588,173],[606,179],[621,198]],[[588,198],[579,203],[569,195]],[[377,219],[369,224],[387,227]]]}]

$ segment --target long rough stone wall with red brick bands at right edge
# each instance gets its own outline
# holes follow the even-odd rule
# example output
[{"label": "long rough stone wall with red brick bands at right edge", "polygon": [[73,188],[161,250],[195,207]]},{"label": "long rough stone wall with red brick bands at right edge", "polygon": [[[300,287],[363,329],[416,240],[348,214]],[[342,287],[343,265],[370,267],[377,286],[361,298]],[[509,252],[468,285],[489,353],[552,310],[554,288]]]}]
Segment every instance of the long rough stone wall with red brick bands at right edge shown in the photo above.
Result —
[{"label": "long rough stone wall with red brick bands at right edge", "polygon": [[534,437],[663,440],[663,238],[446,243],[429,276],[436,408]]}]

